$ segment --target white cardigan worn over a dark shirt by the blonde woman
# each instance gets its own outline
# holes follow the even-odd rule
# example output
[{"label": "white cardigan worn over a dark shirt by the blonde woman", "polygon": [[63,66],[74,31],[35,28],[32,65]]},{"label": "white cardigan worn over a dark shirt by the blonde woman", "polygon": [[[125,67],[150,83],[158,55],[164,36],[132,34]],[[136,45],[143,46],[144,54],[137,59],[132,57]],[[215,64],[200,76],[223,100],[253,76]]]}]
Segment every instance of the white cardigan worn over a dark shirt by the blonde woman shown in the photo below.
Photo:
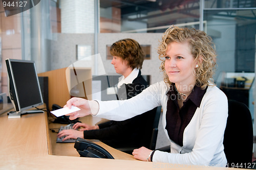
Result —
[{"label": "white cardigan worn over a dark shirt by the blonde woman", "polygon": [[[163,128],[166,126],[167,95],[169,87],[164,81],[155,83],[128,100],[98,101],[96,116],[110,120],[125,120],[152,110],[159,105],[163,109]],[[154,162],[226,166],[223,136],[228,116],[226,95],[217,87],[209,86],[193,118],[186,126],[183,146],[170,140],[170,153],[155,151]],[[136,140],[136,139],[135,139]]]}]

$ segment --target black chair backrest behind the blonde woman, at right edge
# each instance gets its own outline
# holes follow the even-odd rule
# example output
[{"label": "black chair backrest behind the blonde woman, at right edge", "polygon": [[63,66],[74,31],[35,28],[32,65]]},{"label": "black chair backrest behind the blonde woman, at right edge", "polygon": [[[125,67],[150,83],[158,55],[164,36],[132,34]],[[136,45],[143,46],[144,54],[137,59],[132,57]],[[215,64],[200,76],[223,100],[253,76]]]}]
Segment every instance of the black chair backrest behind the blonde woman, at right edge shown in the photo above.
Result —
[{"label": "black chair backrest behind the blonde woman, at right edge", "polygon": [[228,100],[223,145],[229,167],[252,162],[252,119],[248,107],[242,102]]}]

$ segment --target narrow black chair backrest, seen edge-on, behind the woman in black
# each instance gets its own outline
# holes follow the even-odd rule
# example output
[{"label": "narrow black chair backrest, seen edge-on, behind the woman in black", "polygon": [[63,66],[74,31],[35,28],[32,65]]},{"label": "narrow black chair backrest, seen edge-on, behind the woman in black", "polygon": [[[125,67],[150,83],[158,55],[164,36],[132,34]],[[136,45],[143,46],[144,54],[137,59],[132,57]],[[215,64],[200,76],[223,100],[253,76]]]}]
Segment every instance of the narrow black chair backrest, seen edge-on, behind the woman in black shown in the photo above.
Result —
[{"label": "narrow black chair backrest, seen edge-on, behind the woman in black", "polygon": [[162,109],[162,107],[159,106],[159,107],[157,107],[157,110],[156,110],[155,120],[154,120],[154,124],[153,124],[152,138],[151,138],[150,148],[149,148],[150,150],[155,150],[155,148],[156,148],[158,124],[159,124],[159,119],[160,119],[160,115],[161,115],[161,109]]}]

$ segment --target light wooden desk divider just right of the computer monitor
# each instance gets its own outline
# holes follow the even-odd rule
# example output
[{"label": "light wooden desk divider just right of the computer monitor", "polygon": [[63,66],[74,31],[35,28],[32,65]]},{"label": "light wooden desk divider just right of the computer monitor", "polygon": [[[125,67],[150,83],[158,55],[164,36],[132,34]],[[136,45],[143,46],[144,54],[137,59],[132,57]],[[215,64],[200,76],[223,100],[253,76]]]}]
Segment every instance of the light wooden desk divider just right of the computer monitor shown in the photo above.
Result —
[{"label": "light wooden desk divider just right of the computer monitor", "polygon": [[[72,75],[75,75],[77,79]],[[63,107],[71,97],[92,99],[91,68],[76,68],[76,70],[71,68],[62,68],[39,73],[38,76],[48,77],[48,103],[50,110],[52,104],[58,104]],[[83,79],[83,81],[80,81],[81,79]],[[74,86],[74,84],[76,86]],[[74,91],[78,91],[78,95],[76,95]],[[73,94],[71,94],[72,92]],[[47,93],[47,91],[45,91],[45,93]],[[87,96],[82,96],[80,94],[86,94]],[[45,96],[45,94],[43,95]]]}]

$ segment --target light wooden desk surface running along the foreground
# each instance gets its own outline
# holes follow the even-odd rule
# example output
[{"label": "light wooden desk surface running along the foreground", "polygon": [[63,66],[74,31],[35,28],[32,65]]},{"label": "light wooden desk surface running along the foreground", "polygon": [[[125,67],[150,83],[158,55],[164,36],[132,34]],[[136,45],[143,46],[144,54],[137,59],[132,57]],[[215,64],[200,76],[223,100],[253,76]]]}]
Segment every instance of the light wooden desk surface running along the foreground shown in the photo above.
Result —
[{"label": "light wooden desk surface running along the foreground", "polygon": [[[49,155],[51,153],[51,143],[49,143],[50,140],[47,131],[48,124],[45,113],[23,115],[21,118],[16,119],[8,119],[6,113],[0,115],[0,169],[188,168],[186,165],[135,161],[133,158],[133,160],[131,159],[131,155],[127,154],[127,156],[111,147],[107,147],[106,150],[109,150],[114,157],[124,154],[122,159],[131,160]],[[113,150],[110,151],[110,149]],[[205,168],[209,169],[208,167]],[[189,167],[189,169],[195,169],[195,167]],[[224,168],[218,169],[221,170]]]}]

